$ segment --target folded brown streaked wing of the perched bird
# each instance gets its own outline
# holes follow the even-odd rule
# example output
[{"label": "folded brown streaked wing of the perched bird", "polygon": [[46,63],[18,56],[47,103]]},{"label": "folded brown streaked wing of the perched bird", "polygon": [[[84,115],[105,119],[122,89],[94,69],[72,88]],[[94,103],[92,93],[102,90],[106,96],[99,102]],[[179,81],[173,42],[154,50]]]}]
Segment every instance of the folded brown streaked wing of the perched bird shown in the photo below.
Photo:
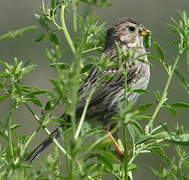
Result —
[{"label": "folded brown streaked wing of the perched bird", "polygon": [[[132,80],[134,74],[137,71],[137,66],[132,65],[127,73],[127,83]],[[109,76],[107,78],[107,76]],[[125,81],[125,76],[120,69],[110,68],[107,71],[98,73],[96,69],[92,69],[89,73],[88,78],[81,86],[79,92],[79,103],[77,106],[77,113],[81,114],[86,103],[86,99],[89,96],[91,90],[95,88],[95,91],[90,99],[88,112],[93,111],[93,113],[101,113],[106,111],[107,107],[103,107],[111,103],[112,98],[123,89],[123,83]],[[96,114],[95,113],[95,114]],[[95,116],[95,115],[94,115]]]}]

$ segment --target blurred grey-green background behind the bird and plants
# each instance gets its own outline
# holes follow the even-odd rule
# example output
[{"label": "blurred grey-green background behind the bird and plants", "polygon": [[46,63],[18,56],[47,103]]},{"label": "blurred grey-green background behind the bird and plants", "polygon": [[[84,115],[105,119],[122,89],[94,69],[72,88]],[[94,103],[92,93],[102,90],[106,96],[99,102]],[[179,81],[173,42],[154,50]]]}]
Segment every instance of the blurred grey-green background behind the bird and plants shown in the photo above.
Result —
[{"label": "blurred grey-green background behind the bird and plants", "polygon": [[[170,17],[177,16],[178,9],[185,10],[189,14],[188,0],[111,0],[110,2],[112,3],[112,6],[110,7],[95,9],[95,14],[100,17],[101,22],[106,22],[107,25],[109,25],[120,17],[129,16],[135,18],[138,22],[152,31],[153,40],[157,41],[165,49],[168,63],[173,62],[176,48],[171,47],[170,42],[176,37],[168,33],[169,28],[165,26],[165,24],[170,22]],[[40,0],[1,0],[0,34],[24,26],[38,25],[34,13],[39,12],[40,3]],[[83,10],[84,7],[80,9],[80,12],[82,13]],[[69,22],[71,21],[68,19],[67,23]],[[37,64],[38,67],[34,72],[25,77],[23,83],[35,84],[41,88],[49,89],[51,86],[48,82],[48,78],[52,77],[53,73],[49,71],[48,62],[43,56],[44,49],[49,47],[49,44],[48,42],[34,42],[40,31],[41,29],[38,28],[36,31],[26,33],[22,37],[0,41],[0,59],[8,61],[9,63],[13,62],[14,57],[18,57],[21,60],[31,60],[31,63]],[[62,41],[63,40],[64,39],[62,39]],[[153,49],[151,48],[149,51],[153,51]],[[66,56],[69,56],[69,54],[66,53]],[[148,87],[150,92],[157,89],[161,90],[167,79],[167,75],[161,65],[154,61],[151,62],[154,64],[154,67],[151,68],[151,81]],[[189,77],[185,65],[186,61],[183,58],[179,63],[179,70],[183,72],[186,77]],[[140,97],[138,104],[149,101],[153,101],[151,94]],[[188,96],[180,87],[179,82],[175,77],[169,89],[169,102],[176,101],[189,102]],[[0,103],[1,121],[6,119],[8,111],[7,105],[8,102]],[[168,110],[163,110],[157,119],[161,122],[167,122],[171,128],[174,128],[176,124],[179,123],[187,129],[189,128],[188,114],[187,110],[182,109],[178,111],[175,116],[172,116]],[[22,125],[19,129],[21,134],[29,135],[37,127],[37,123],[24,107],[15,112],[15,121]],[[33,146],[44,136],[45,133],[41,132],[41,134],[35,138]],[[43,157],[45,157],[45,155],[43,155]],[[154,177],[150,168],[158,168],[160,162],[160,157],[155,154],[140,156],[136,162],[140,168],[135,172],[134,179],[157,179]],[[39,159],[34,162],[34,165],[37,165],[37,163],[39,163]],[[107,177],[107,179],[111,179],[111,177]]]}]

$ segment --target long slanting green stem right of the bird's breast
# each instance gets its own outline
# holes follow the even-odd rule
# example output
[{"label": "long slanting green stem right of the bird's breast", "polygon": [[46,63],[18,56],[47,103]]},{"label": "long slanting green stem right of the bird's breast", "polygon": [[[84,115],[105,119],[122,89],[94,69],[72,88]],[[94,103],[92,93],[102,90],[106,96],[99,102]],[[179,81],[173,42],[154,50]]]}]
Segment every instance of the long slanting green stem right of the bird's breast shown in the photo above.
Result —
[{"label": "long slanting green stem right of the bird's breast", "polygon": [[165,84],[165,87],[164,87],[162,96],[161,96],[161,98],[160,98],[160,100],[159,100],[159,103],[158,103],[158,105],[156,106],[156,109],[154,110],[154,113],[153,113],[153,115],[152,115],[151,120],[149,121],[149,123],[148,123],[147,126],[146,126],[146,127],[147,127],[147,132],[151,132],[151,131],[152,131],[152,129],[153,129],[153,122],[154,122],[155,118],[157,117],[157,114],[159,113],[159,111],[160,111],[160,109],[161,109],[163,103],[166,101],[167,91],[168,91],[168,88],[169,88],[169,86],[170,86],[170,82],[171,82],[171,80],[172,80],[172,77],[173,77],[175,68],[176,68],[177,63],[178,63],[179,58],[180,58],[180,55],[181,55],[181,54],[178,53],[178,55],[177,55],[177,57],[176,57],[176,59],[175,59],[175,62],[174,62],[174,64],[173,64],[173,67],[172,67],[172,69],[171,69],[171,71],[170,71],[170,73],[169,73],[169,76],[168,76],[167,82],[166,82],[166,84]]}]

